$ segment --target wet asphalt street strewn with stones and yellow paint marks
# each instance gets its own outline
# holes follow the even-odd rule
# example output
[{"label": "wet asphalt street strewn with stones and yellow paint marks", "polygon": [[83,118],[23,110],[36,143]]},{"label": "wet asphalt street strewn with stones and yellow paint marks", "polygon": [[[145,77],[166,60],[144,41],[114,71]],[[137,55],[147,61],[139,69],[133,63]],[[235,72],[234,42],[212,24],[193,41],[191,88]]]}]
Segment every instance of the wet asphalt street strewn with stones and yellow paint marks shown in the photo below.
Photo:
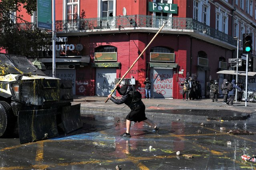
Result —
[{"label": "wet asphalt street strewn with stones and yellow paint marks", "polygon": [[[157,111],[153,106],[157,101],[151,102],[152,106],[147,103],[147,117],[160,125],[157,134],[145,123],[133,123],[131,138],[122,138],[119,135],[125,132],[127,113],[126,107],[122,109],[124,105],[116,107],[112,103],[84,102],[81,107],[83,128],[70,134],[27,144],[20,144],[18,133],[0,138],[0,169],[115,170],[118,166],[122,170],[256,170],[256,162],[246,162],[241,158],[243,154],[256,155],[256,134],[253,134],[256,133],[256,116],[253,112],[249,114],[252,108],[240,108],[243,113],[232,111],[233,118],[243,115],[244,120],[220,121],[214,120],[222,115],[215,108],[201,108],[200,111],[198,107],[199,110],[193,112],[183,107],[170,113],[173,106],[158,103],[161,116],[155,115]],[[111,112],[119,108],[119,114],[107,113],[107,110],[93,112],[93,107],[101,109],[101,105],[111,105],[111,109],[107,109]],[[230,110],[215,105],[222,109],[223,114]],[[228,133],[238,129],[252,134]]]}]

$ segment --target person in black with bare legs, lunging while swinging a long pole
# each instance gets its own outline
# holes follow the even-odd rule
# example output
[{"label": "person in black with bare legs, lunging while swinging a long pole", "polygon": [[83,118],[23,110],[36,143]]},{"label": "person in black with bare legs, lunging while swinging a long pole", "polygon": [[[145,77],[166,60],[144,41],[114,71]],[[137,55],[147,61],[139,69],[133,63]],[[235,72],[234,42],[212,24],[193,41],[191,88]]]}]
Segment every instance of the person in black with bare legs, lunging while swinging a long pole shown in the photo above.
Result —
[{"label": "person in black with bare legs, lunging while swinging a long pole", "polygon": [[130,113],[126,116],[126,132],[121,134],[122,137],[131,137],[130,129],[131,129],[131,122],[145,122],[149,124],[151,127],[154,127],[155,132],[159,130],[159,127],[155,125],[150,119],[147,119],[145,115],[145,105],[140,100],[137,102],[133,101],[133,96],[130,93],[132,90],[131,86],[123,85],[121,88],[117,86],[117,91],[120,95],[122,95],[121,99],[115,99],[112,95],[109,95],[109,99],[114,103],[120,105],[125,103],[125,105],[129,106],[131,109]]}]

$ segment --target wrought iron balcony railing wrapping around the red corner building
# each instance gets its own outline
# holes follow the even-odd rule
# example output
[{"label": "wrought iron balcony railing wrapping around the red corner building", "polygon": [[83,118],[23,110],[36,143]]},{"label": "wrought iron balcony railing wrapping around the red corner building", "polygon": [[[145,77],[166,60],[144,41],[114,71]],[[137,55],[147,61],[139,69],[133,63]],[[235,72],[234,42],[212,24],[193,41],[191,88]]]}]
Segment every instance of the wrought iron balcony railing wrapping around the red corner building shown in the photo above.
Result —
[{"label": "wrought iron balcony railing wrapping around the red corner building", "polygon": [[206,31],[206,35],[217,40],[236,46],[236,40],[232,36],[220,32],[214,28],[210,28],[202,22],[198,22],[192,18],[177,17],[161,17],[161,16],[115,16],[103,18],[80,18],[77,20],[57,20],[57,32],[74,32],[81,30],[97,30],[97,29],[113,29],[118,28],[160,28],[165,23],[164,28],[173,30],[198,30]]}]

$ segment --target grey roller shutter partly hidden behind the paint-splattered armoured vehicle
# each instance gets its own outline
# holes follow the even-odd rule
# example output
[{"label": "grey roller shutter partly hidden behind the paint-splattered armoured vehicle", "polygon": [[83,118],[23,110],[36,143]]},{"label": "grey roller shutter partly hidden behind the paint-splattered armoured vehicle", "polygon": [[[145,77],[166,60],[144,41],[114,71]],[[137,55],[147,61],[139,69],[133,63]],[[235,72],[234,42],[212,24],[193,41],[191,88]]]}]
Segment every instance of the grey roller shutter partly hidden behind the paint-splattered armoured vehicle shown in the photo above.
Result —
[{"label": "grey roller shutter partly hidden behind the paint-splattered armoured vehicle", "polygon": [[[52,70],[45,70],[44,74],[52,77]],[[64,80],[72,80],[73,95],[76,94],[76,70],[75,69],[56,69],[56,78]]]}]

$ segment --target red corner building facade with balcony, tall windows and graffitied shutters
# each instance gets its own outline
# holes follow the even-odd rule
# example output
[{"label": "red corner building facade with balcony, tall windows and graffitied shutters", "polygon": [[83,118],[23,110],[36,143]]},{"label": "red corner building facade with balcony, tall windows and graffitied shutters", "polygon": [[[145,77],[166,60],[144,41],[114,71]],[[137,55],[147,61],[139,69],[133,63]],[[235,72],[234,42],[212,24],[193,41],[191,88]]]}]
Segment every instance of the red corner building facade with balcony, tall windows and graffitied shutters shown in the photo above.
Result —
[{"label": "red corner building facade with balcony, tall windows and graffitied shutters", "polygon": [[[74,95],[109,95],[115,79],[141,56],[124,78],[135,78],[143,97],[146,77],[153,98],[182,99],[181,82],[188,77],[200,82],[203,98],[209,97],[211,80],[221,86],[232,78],[217,72],[236,69],[228,59],[236,58],[237,50],[243,59],[238,70],[245,71],[242,35],[252,33],[252,49],[256,46],[254,0],[56,0],[55,9],[56,77],[72,79]],[[36,22],[38,17],[35,12],[24,18]],[[51,49],[42,47],[36,56],[47,75]]]}]

